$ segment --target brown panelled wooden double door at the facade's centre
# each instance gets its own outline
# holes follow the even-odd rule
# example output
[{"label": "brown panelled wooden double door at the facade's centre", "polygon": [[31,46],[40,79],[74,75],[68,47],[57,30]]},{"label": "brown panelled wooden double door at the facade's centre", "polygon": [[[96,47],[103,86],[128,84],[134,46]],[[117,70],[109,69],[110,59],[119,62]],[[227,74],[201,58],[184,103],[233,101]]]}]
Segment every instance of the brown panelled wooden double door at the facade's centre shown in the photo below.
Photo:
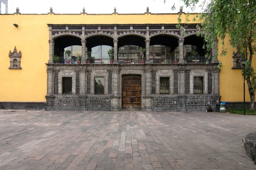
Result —
[{"label": "brown panelled wooden double door at the facade's centre", "polygon": [[122,109],[141,109],[141,76],[122,76]]}]

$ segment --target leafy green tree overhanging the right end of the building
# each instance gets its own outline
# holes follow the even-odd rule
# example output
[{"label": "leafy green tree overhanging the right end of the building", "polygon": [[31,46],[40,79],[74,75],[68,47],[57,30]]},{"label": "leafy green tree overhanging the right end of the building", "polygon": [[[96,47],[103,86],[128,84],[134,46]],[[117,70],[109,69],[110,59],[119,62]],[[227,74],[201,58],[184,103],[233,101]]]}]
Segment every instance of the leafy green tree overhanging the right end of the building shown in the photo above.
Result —
[{"label": "leafy green tree overhanging the right end of the building", "polygon": [[[199,0],[180,1],[184,4],[183,6],[192,11],[199,2]],[[218,48],[218,59],[227,54],[227,45],[230,43],[249,60],[246,68],[248,73],[245,76],[251,98],[251,109],[253,109],[256,77],[251,63],[253,54],[256,54],[256,0],[201,0],[200,3],[202,12],[200,15],[195,14],[193,21],[198,20],[200,23],[197,28],[202,30],[202,33],[198,36],[204,37],[207,51],[211,51],[212,45],[218,40],[221,45]],[[180,6],[180,9],[183,6]],[[177,18],[177,28],[180,28],[182,24],[183,34],[185,34],[186,23],[189,22],[190,14],[186,14],[183,20],[181,15],[179,13]],[[218,65],[219,68],[221,66]]]}]

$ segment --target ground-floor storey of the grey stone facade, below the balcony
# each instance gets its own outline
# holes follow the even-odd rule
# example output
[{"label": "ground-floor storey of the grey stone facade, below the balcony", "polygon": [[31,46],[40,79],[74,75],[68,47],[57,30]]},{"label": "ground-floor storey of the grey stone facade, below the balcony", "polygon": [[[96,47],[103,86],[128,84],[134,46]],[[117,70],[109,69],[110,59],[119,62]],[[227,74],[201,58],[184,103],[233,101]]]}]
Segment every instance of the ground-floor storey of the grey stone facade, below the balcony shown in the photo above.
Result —
[{"label": "ground-floor storey of the grey stone facade, below the balcony", "polygon": [[[47,64],[53,80],[49,88],[54,94],[47,97],[47,110],[121,110],[122,109],[122,76],[141,76],[141,108],[153,111],[205,111],[209,105],[214,109],[220,96],[213,94],[212,84],[218,64],[94,64],[65,65]],[[172,69],[170,69],[172,67]],[[182,70],[180,71],[180,67]],[[81,71],[82,70],[82,71]],[[67,73],[69,71],[69,73]],[[202,73],[203,72],[203,73]],[[204,76],[204,94],[192,94],[193,76]],[[181,76],[182,75],[182,76]],[[62,77],[73,77],[72,94],[62,94]],[[104,94],[94,94],[94,77],[105,77]],[[170,77],[170,93],[159,94],[159,77]],[[58,81],[56,81],[58,79]],[[178,83],[179,82],[179,83]],[[179,85],[180,83],[182,85]],[[103,83],[102,83],[103,84]],[[78,87],[77,87],[78,86]],[[205,87],[207,86],[207,87]],[[58,93],[55,92],[58,87]],[[84,90],[79,87],[84,87]],[[85,89],[86,87],[86,89]],[[181,88],[183,87],[183,89]]]}]

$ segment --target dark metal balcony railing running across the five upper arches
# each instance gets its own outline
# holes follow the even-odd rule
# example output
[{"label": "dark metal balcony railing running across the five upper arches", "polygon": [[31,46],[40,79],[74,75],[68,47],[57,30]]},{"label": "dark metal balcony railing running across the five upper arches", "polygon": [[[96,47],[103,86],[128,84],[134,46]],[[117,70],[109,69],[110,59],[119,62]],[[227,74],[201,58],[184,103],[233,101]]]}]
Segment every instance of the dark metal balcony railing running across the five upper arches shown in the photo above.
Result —
[{"label": "dark metal balcony railing running across the five upper arches", "polygon": [[[149,57],[149,61],[151,64],[177,64],[179,61],[177,57]],[[188,64],[196,64],[196,63],[211,63],[212,59],[206,58],[204,56],[200,57],[191,57],[184,58],[184,62]],[[77,57],[71,57],[70,59],[65,59],[64,57],[59,57],[58,62],[55,64],[79,64]],[[113,60],[110,60],[109,57],[88,57],[87,64],[112,64]],[[145,60],[141,58],[128,58],[128,57],[119,57],[119,64],[144,64]]]}]

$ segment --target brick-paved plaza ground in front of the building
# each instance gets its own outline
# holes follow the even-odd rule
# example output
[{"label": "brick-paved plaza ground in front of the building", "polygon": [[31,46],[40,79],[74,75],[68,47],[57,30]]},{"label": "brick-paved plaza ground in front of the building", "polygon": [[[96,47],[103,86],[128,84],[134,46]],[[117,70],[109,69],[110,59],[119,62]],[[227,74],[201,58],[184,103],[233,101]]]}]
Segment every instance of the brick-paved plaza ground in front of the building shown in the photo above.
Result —
[{"label": "brick-paved plaza ground in front of the building", "polygon": [[256,116],[0,110],[0,170],[256,169]]}]

